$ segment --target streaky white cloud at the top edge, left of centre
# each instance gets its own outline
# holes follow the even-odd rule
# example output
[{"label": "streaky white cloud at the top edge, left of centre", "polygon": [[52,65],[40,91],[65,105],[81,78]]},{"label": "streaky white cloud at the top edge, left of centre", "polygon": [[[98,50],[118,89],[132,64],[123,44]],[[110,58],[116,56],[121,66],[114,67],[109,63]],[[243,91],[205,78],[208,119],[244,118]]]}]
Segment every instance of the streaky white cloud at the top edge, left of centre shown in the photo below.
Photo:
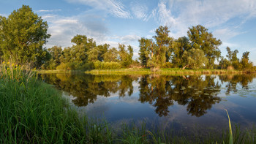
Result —
[{"label": "streaky white cloud at the top edge, left of centre", "polygon": [[93,7],[97,10],[104,10],[117,18],[132,18],[129,10],[120,1],[116,0],[67,0],[72,3],[80,3]]}]

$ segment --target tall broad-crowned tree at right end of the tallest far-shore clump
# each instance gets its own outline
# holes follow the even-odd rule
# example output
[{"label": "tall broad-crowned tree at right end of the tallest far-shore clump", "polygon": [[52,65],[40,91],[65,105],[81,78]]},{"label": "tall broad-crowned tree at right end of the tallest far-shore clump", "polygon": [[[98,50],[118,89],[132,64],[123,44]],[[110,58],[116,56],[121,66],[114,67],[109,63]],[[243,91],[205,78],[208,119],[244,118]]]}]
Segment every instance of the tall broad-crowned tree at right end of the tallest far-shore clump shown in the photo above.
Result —
[{"label": "tall broad-crowned tree at right end of the tallest far-shore clump", "polygon": [[215,59],[219,60],[221,56],[218,47],[222,44],[222,41],[214,38],[213,34],[201,25],[192,26],[187,34],[192,48],[203,50],[206,58],[208,58],[207,68],[213,68]]}]

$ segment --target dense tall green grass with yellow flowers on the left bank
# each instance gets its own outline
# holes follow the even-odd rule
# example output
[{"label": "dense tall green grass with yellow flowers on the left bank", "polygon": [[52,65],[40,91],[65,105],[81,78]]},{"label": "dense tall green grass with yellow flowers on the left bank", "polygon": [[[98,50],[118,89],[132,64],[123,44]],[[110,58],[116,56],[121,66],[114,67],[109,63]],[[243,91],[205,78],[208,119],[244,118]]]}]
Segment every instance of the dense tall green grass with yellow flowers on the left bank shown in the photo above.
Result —
[{"label": "dense tall green grass with yellow flowers on the left bank", "polygon": [[[34,72],[1,64],[0,143],[105,143],[104,126],[80,118],[66,99]],[[96,134],[95,134],[96,133]]]}]

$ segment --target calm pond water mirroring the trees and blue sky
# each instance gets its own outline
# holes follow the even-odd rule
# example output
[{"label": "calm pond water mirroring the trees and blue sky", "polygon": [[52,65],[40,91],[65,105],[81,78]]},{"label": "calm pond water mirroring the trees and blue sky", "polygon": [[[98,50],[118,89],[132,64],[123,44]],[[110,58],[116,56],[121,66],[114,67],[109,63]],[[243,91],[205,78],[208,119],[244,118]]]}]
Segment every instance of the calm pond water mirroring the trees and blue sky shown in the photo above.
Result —
[{"label": "calm pond water mirroring the trees and blue sky", "polygon": [[255,75],[41,75],[64,91],[80,115],[112,126],[145,124],[163,132],[221,132],[256,122]]}]

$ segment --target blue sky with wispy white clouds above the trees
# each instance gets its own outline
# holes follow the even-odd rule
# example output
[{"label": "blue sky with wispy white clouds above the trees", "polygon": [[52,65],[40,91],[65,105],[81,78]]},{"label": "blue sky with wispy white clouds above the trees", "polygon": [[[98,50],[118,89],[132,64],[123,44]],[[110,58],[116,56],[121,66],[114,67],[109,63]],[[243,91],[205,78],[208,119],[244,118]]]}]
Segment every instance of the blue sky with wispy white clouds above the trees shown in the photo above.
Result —
[{"label": "blue sky with wispy white clouds above the trees", "polygon": [[8,17],[23,4],[48,22],[46,48],[72,46],[72,37],[82,34],[97,45],[132,45],[138,58],[138,39],[152,38],[159,26],[168,26],[177,39],[200,24],[222,40],[222,56],[228,46],[238,58],[249,51],[256,64],[255,0],[0,0],[0,15]]}]

